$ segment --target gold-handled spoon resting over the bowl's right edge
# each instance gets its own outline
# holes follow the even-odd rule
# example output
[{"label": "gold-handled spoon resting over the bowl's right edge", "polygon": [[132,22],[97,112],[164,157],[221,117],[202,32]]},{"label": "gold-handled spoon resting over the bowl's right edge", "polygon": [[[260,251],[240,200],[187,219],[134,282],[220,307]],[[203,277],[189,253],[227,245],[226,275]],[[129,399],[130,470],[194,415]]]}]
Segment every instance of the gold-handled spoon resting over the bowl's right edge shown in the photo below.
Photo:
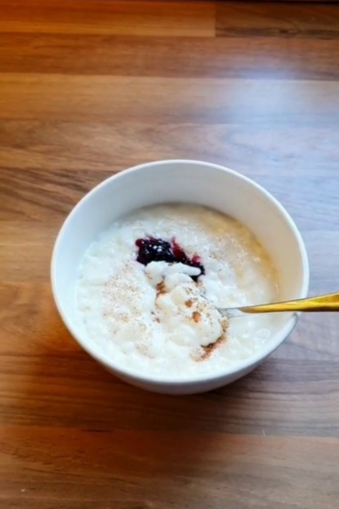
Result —
[{"label": "gold-handled spoon resting over the bowl's right edge", "polygon": [[240,317],[248,313],[276,313],[282,311],[339,311],[339,293],[318,295],[308,299],[286,300],[270,304],[243,307],[217,307],[226,318]]}]

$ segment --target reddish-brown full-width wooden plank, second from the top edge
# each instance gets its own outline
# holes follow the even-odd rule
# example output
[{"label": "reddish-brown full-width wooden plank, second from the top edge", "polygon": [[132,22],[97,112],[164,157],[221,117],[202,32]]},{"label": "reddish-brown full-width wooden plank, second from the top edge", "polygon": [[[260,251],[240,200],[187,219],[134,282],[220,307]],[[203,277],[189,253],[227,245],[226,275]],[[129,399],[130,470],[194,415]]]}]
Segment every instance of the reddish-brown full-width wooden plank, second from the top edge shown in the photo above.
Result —
[{"label": "reddish-brown full-width wooden plank, second from the top edge", "polygon": [[[253,4],[251,4],[253,5]],[[339,7],[338,7],[339,10]],[[251,17],[249,17],[251,20]],[[242,26],[242,24],[241,24]],[[337,39],[0,33],[6,72],[163,77],[337,79]],[[114,48],[114,51],[112,51]],[[179,48],[179,51],[178,51]],[[73,51],[77,52],[74,59]]]}]

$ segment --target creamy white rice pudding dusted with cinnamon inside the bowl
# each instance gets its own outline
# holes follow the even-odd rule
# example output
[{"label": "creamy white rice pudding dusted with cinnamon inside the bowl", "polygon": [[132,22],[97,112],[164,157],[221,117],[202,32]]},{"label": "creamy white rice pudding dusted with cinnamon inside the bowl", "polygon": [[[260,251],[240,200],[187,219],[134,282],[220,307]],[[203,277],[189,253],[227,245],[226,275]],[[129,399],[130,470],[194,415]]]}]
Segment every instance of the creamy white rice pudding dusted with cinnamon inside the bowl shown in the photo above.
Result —
[{"label": "creamy white rice pudding dusted with cinnamon inside the bowl", "polygon": [[160,205],[121,217],[79,267],[76,305],[90,341],[140,375],[217,374],[260,350],[274,315],[222,318],[278,299],[272,262],[253,233],[198,205]]}]

